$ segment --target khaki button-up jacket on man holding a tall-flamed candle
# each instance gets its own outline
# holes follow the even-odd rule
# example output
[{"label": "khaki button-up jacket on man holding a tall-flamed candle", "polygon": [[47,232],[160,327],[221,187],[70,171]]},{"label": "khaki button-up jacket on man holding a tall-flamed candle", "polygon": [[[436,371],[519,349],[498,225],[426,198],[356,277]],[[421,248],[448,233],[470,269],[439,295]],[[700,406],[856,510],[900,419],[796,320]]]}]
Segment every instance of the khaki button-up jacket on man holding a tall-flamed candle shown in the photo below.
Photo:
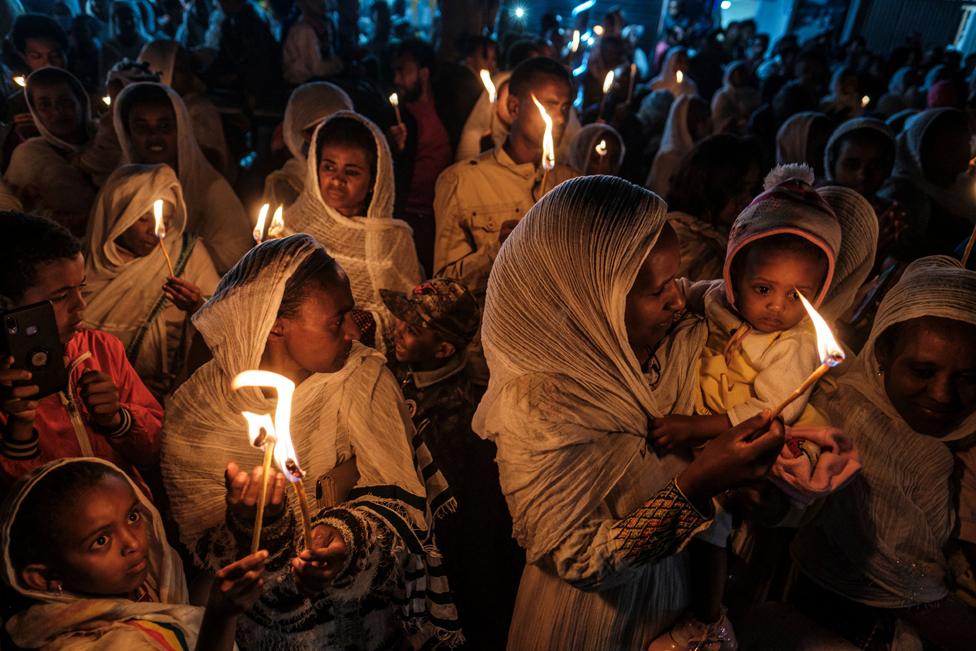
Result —
[{"label": "khaki button-up jacket on man holding a tall-flamed candle", "polygon": [[[557,164],[546,178],[546,190],[575,176],[573,168]],[[541,168],[517,165],[501,147],[444,170],[434,195],[434,275],[456,278],[483,293],[502,224],[528,212],[542,196],[541,181]]]}]

